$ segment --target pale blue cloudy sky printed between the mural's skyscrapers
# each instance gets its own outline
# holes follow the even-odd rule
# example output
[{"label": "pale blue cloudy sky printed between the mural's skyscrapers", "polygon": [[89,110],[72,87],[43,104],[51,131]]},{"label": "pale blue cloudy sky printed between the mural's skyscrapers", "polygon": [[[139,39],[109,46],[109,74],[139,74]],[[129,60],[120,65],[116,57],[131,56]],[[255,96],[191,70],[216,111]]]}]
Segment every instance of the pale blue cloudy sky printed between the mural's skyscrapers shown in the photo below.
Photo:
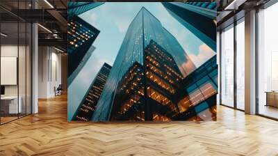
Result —
[{"label": "pale blue cloudy sky printed between the mural's skyscrapers", "polygon": [[83,20],[99,29],[100,33],[93,43],[96,47],[95,51],[68,88],[69,119],[72,118],[104,62],[113,65],[129,24],[142,6],[156,16],[165,29],[177,38],[197,67],[215,55],[213,50],[175,20],[159,2],[106,2],[79,15]]}]

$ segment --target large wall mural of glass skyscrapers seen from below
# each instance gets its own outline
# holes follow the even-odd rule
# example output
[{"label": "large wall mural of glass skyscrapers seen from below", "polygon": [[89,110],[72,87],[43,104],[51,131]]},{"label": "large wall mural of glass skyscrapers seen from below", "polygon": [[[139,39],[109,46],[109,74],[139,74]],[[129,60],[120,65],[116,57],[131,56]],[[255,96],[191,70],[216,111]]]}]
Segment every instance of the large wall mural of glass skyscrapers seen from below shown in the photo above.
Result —
[{"label": "large wall mural of glass skyscrapers seen from below", "polygon": [[216,120],[215,2],[69,2],[68,120]]}]

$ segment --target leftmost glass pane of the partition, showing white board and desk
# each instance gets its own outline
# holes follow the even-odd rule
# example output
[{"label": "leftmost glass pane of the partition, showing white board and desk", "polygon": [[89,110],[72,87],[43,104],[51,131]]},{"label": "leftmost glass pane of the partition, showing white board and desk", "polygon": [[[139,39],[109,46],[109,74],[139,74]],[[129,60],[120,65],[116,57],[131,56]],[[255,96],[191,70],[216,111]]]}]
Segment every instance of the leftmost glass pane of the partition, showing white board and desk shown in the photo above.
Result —
[{"label": "leftmost glass pane of the partition, showing white board and desk", "polygon": [[22,109],[18,98],[18,29],[17,23],[1,23],[1,123],[17,119]]}]

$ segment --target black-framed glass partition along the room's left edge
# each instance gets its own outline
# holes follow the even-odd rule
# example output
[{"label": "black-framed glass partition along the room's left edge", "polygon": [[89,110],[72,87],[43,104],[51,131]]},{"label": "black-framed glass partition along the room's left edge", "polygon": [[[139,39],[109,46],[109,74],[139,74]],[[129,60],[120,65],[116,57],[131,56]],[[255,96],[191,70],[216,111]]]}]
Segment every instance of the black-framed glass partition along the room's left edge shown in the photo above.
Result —
[{"label": "black-framed glass partition along the room's left edge", "polygon": [[28,9],[30,3],[0,1],[1,125],[31,114],[32,28],[15,15],[17,8]]}]

